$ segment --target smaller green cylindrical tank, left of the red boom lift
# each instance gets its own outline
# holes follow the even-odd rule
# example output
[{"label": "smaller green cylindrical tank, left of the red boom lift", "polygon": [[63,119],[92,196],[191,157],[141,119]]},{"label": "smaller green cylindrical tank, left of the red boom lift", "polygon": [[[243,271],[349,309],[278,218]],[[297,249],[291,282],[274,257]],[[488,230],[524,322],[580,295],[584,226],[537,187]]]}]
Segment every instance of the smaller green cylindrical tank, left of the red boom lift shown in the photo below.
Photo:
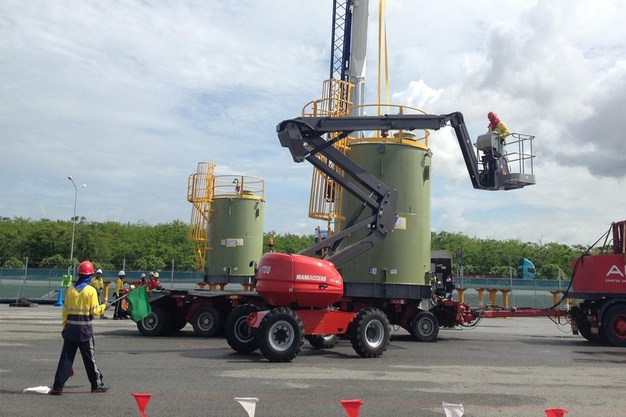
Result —
[{"label": "smaller green cylindrical tank, left of the red boom lift", "polygon": [[211,202],[205,281],[247,283],[263,253],[265,201],[246,190]]}]

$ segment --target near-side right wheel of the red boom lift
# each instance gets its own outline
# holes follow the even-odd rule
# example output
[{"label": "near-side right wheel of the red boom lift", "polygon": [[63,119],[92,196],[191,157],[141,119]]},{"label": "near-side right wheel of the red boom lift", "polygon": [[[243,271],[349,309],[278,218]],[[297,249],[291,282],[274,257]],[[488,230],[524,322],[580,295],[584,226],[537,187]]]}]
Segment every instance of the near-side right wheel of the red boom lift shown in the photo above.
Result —
[{"label": "near-side right wheel of the red boom lift", "polygon": [[391,324],[377,308],[364,308],[350,323],[350,342],[361,357],[379,357],[391,340]]}]

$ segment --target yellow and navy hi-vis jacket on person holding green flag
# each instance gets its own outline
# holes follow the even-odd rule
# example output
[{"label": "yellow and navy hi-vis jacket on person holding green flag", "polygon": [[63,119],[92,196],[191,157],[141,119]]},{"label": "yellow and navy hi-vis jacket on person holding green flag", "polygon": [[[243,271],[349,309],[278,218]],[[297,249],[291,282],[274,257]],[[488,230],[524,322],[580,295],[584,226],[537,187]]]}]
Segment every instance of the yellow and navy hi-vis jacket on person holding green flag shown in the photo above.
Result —
[{"label": "yellow and navy hi-vis jacket on person holding green flag", "polygon": [[93,337],[93,316],[99,316],[106,308],[106,304],[98,303],[98,292],[91,285],[87,285],[80,292],[75,287],[70,287],[61,316],[63,338],[72,341],[89,340]]}]

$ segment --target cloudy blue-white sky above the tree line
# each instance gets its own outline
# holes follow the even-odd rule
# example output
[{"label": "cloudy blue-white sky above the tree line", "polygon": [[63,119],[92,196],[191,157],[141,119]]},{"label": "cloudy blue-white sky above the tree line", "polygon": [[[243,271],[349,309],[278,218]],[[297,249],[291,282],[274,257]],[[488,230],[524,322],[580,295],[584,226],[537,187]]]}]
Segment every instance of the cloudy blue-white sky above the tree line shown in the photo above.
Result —
[{"label": "cloudy blue-white sky above the tree line", "polygon": [[[492,192],[433,132],[433,231],[589,246],[625,220],[625,19],[621,0],[386,1],[390,103],[535,136],[537,184]],[[366,103],[377,21],[371,0]],[[77,197],[90,222],[189,222],[211,162],[265,180],[265,231],[312,234],[312,167],[276,125],[321,98],[331,28],[330,0],[0,0],[0,216],[71,220]]]}]

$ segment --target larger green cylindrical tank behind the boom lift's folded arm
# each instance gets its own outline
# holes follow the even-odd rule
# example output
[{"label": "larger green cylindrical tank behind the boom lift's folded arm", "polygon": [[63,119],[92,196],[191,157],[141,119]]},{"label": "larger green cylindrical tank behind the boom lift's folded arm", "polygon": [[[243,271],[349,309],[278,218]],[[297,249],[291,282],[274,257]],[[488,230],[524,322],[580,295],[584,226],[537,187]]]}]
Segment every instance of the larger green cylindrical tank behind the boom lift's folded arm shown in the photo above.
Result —
[{"label": "larger green cylindrical tank behind the boom lift's folded arm", "polygon": [[[348,156],[375,177],[398,191],[395,228],[382,243],[339,266],[348,283],[430,284],[431,181],[430,151],[420,145],[365,142],[350,145]],[[341,214],[350,218],[359,202],[344,193]],[[366,209],[370,215],[371,212]],[[342,247],[368,233],[361,229]]]}]

